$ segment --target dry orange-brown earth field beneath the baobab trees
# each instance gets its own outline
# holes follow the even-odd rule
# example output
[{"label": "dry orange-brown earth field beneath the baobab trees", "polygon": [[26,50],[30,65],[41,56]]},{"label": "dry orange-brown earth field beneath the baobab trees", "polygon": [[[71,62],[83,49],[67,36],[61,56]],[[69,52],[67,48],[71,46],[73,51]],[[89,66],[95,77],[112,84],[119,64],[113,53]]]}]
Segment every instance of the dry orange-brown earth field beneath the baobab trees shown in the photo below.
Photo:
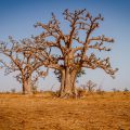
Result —
[{"label": "dry orange-brown earth field beneath the baobab trees", "polygon": [[130,130],[130,93],[79,100],[0,94],[0,130]]}]

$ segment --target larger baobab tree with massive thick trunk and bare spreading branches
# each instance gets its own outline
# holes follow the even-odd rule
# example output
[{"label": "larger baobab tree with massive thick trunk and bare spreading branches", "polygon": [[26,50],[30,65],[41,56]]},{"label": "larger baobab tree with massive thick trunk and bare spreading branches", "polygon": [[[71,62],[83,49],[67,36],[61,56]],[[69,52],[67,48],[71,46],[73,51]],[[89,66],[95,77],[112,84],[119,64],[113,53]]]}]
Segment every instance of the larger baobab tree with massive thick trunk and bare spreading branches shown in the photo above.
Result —
[{"label": "larger baobab tree with massive thick trunk and bare spreading branches", "polygon": [[[104,20],[101,14],[94,17],[86,9],[74,12],[65,10],[63,16],[66,26],[62,26],[53,13],[47,24],[38,22],[35,26],[41,27],[43,31],[34,39],[39,50],[37,57],[40,60],[44,56],[44,66],[55,69],[61,76],[60,96],[75,96],[76,77],[83,67],[102,68],[112,77],[118,70],[112,68],[109,57],[101,58],[92,53],[92,50],[110,51],[105,42],[114,42],[114,39],[94,35]],[[40,54],[41,47],[48,50],[46,53],[43,50],[43,54]]]}]

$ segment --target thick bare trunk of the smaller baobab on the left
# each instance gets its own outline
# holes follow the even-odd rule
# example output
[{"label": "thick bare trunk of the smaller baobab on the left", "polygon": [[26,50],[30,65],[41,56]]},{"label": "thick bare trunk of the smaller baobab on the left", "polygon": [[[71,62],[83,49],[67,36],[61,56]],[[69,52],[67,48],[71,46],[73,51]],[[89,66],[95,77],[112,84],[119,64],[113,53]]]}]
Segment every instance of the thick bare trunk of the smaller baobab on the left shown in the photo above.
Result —
[{"label": "thick bare trunk of the smaller baobab on the left", "polygon": [[23,79],[23,94],[32,94],[30,77]]}]

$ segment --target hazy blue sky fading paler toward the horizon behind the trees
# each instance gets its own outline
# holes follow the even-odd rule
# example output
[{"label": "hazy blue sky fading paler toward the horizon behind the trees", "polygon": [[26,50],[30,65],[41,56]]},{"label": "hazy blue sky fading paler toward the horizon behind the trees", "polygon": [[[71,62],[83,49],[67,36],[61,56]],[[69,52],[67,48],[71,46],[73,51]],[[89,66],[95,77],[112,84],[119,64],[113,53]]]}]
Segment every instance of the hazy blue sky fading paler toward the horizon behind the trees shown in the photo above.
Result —
[{"label": "hazy blue sky fading paler toward the horizon behind the trees", "polygon": [[[35,23],[47,22],[52,12],[62,20],[65,9],[87,9],[92,15],[101,13],[105,21],[101,24],[100,34],[115,39],[108,56],[112,65],[119,68],[116,79],[102,69],[87,69],[79,84],[91,79],[105,90],[130,89],[130,0],[0,0],[0,40],[8,41],[9,36],[22,39],[37,35],[39,30],[34,28]],[[40,89],[50,90],[52,86],[58,86],[52,73],[39,81]],[[0,70],[0,91],[12,88],[21,90],[13,75],[4,76],[3,70]]]}]

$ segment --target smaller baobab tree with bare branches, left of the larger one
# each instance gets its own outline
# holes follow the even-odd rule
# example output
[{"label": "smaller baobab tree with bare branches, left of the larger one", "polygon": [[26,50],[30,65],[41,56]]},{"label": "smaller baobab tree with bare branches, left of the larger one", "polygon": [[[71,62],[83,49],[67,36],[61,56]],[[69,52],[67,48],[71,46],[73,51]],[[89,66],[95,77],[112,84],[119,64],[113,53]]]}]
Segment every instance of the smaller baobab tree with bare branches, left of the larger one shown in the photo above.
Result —
[{"label": "smaller baobab tree with bare branches, left of the larger one", "polygon": [[23,39],[20,42],[9,37],[10,42],[0,43],[0,66],[5,68],[5,75],[16,72],[16,80],[23,86],[24,94],[31,94],[31,87],[39,77],[44,77],[47,72],[41,69],[42,63],[35,58],[30,51],[23,48],[32,44],[31,39]]}]

